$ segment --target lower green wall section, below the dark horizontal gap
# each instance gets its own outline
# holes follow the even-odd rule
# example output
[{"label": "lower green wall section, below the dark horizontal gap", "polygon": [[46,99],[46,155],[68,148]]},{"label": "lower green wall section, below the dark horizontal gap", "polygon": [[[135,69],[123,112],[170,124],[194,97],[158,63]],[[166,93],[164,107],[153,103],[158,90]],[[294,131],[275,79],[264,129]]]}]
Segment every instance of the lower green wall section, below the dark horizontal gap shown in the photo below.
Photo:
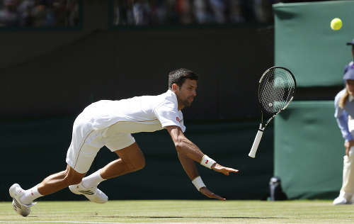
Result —
[{"label": "lower green wall section, below the dark horizontal gap", "polygon": [[344,147],[333,101],[295,101],[275,117],[274,173],[289,198],[335,198]]}]

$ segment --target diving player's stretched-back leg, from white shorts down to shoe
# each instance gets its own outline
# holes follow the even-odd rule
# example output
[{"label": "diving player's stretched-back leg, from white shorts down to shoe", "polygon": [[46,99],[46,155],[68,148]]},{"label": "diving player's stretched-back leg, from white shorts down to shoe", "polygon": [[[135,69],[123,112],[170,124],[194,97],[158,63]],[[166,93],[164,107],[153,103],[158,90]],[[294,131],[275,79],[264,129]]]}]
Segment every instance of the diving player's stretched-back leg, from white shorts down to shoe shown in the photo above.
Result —
[{"label": "diving player's stretched-back leg, from white shorts down to shoe", "polygon": [[[28,190],[23,190],[19,184],[13,184],[9,189],[13,198],[13,209],[20,215],[27,216],[35,198],[52,194],[65,187],[78,184],[89,170],[99,147],[101,135],[94,132],[87,124],[85,116],[79,115],[73,127],[72,143],[67,152],[67,169],[45,178],[40,184]],[[89,145],[96,142],[96,145]]]}]

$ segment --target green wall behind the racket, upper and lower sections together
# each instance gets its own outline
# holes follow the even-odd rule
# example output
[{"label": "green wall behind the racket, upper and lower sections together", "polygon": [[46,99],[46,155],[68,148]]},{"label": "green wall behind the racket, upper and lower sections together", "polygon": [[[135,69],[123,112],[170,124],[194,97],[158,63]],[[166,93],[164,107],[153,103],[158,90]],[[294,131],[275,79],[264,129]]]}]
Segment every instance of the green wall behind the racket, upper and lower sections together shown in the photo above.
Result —
[{"label": "green wall behind the racket, upper and lower sections together", "polygon": [[[343,89],[343,68],[353,60],[346,42],[354,38],[354,1],[275,4],[273,9],[275,65],[295,74],[305,100],[297,101],[295,94],[275,117],[274,174],[289,198],[335,198],[345,150],[333,100]],[[341,18],[341,30],[331,30],[333,18]],[[310,100],[304,94],[309,92],[324,95]]]}]

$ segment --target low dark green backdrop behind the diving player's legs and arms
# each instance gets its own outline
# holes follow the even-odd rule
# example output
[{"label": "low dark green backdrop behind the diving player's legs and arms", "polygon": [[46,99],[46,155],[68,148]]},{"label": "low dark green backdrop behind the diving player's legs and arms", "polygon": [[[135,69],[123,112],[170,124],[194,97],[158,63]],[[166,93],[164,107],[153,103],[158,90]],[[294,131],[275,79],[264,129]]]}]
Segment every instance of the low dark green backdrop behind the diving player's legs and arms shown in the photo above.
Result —
[{"label": "low dark green backdrop behind the diving player's legs and arms", "polygon": [[[8,188],[18,182],[24,189],[44,177],[65,169],[67,147],[74,117],[1,121],[0,201],[11,201]],[[273,173],[273,127],[263,136],[258,159],[248,157],[258,127],[256,121],[198,123],[185,119],[185,135],[220,164],[239,169],[229,177],[198,165],[203,181],[216,194],[229,199],[259,199],[268,193]],[[166,130],[134,135],[146,157],[146,167],[122,177],[103,181],[100,189],[110,199],[206,199],[200,194],[178,161]],[[90,172],[116,159],[103,147]],[[64,189],[39,200],[82,200]]]}]

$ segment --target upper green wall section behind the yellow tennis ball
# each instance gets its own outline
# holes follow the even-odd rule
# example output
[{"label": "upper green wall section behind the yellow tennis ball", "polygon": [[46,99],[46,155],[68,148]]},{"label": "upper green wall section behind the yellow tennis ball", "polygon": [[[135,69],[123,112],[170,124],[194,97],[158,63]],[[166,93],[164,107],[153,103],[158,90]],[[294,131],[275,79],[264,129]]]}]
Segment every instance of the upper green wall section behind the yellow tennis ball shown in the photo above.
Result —
[{"label": "upper green wall section behind the yellow tennis ball", "polygon": [[[275,65],[292,71],[300,87],[343,84],[353,60],[346,43],[354,38],[354,1],[275,4]],[[331,20],[341,18],[340,30]]]}]

